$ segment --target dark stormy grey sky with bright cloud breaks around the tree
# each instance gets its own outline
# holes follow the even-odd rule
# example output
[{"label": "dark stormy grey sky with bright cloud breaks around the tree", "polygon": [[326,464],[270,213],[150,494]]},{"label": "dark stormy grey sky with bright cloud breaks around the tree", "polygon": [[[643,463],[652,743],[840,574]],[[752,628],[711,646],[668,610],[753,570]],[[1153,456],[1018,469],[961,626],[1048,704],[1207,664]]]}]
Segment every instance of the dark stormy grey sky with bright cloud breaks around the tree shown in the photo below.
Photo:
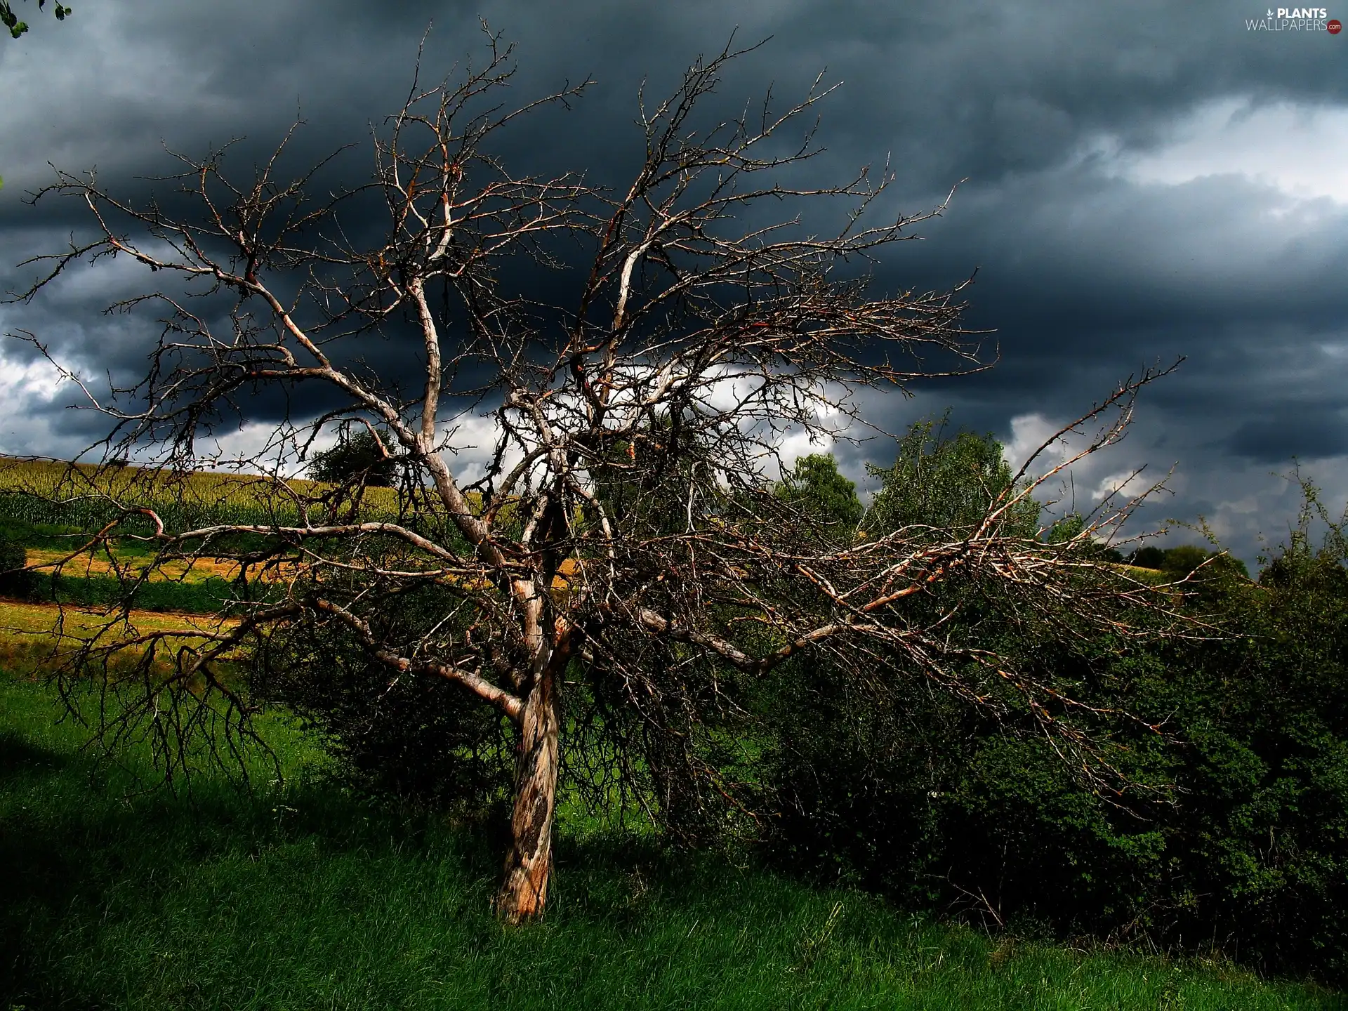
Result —
[{"label": "dark stormy grey sky with bright cloud breaks around the tree", "polygon": [[[876,278],[949,287],[976,268],[969,321],[996,330],[1000,364],[878,400],[878,418],[898,427],[950,407],[1015,456],[1128,373],[1184,355],[1130,438],[1077,476],[1078,497],[1174,466],[1148,522],[1205,516],[1254,561],[1259,535],[1278,543],[1294,515],[1279,477],[1294,457],[1330,501],[1348,495],[1348,32],[1251,31],[1262,0],[88,0],[63,24],[16,5],[32,31],[0,39],[0,288],[82,225],[71,206],[23,202],[49,162],[96,164],[132,190],[166,170],[163,144],[241,136],[262,150],[297,111],[314,154],[361,142],[400,104],[429,23],[437,77],[480,46],[479,16],[518,42],[518,94],[592,74],[593,92],[515,155],[599,174],[636,152],[642,78],[667,90],[737,30],[771,40],[728,75],[728,112],[826,69],[844,85],[824,108],[825,167],[888,155],[896,206],[913,212],[968,179]],[[0,332],[31,330],[86,373],[133,368],[147,321],[98,310],[137,280],[129,264],[73,276],[0,306]],[[88,414],[63,410],[67,394],[15,342],[0,344],[0,452],[89,441]],[[853,476],[867,454],[883,456],[838,448]]]}]

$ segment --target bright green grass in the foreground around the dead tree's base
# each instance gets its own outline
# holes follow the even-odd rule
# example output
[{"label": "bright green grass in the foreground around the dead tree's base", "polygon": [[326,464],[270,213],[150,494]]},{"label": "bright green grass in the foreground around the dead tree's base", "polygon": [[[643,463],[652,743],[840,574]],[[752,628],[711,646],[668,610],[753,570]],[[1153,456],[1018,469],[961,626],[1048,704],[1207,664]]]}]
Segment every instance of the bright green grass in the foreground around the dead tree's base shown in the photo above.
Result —
[{"label": "bright green grass in the foreground around the dead tree's base", "polygon": [[288,772],[137,793],[0,678],[0,1010],[1335,1008],[1227,965],[988,938],[646,838],[561,834],[547,921],[499,925],[499,841]]}]

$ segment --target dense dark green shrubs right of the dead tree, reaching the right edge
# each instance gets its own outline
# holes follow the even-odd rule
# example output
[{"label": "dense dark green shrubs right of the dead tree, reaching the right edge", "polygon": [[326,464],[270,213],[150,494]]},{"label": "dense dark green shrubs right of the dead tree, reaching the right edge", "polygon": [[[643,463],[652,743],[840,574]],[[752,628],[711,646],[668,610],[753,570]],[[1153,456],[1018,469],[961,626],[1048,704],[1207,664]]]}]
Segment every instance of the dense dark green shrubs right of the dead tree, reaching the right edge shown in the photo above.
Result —
[{"label": "dense dark green shrubs right of the dead tree, reaching the right edge", "polygon": [[[1219,635],[1034,647],[1082,701],[1165,717],[1173,743],[1128,720],[1112,740],[1135,785],[1169,789],[1093,795],[1014,723],[921,685],[849,698],[802,666],[770,754],[779,859],[988,926],[1215,944],[1348,980],[1348,537],[1305,491],[1259,584],[1208,549],[1139,553],[1169,578],[1208,562],[1186,605]],[[1014,611],[992,601],[977,620],[981,642],[1022,648],[1003,638]],[[960,617],[948,634],[971,631]]]}]

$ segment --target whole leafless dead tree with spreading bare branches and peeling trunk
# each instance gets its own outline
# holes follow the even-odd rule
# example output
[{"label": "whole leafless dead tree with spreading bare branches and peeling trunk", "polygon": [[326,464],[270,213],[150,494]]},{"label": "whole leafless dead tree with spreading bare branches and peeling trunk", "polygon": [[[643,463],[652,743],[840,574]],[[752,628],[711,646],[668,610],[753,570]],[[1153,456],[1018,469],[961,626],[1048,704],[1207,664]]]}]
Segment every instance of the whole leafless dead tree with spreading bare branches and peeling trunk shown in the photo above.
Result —
[{"label": "whole leafless dead tree with spreading bare branches and peeling trunk", "polygon": [[[131,257],[162,282],[119,305],[162,310],[146,379],[112,395],[86,388],[112,419],[108,458],[189,473],[221,465],[213,435],[267,433],[233,461],[266,476],[249,485],[266,491],[262,520],[174,526],[129,493],[109,496],[116,515],[90,546],[150,523],[156,563],[233,558],[240,585],[270,588],[241,593],[235,619],[190,650],[166,632],[133,636],[146,655],[173,658],[147,674],[147,697],[181,686],[179,701],[216,693],[245,712],[221,661],[298,627],[342,630],[390,681],[460,686],[464,705],[493,708],[518,739],[496,898],[508,921],[539,915],[547,895],[569,665],[605,673],[646,713],[656,654],[741,679],[810,651],[902,655],[976,704],[999,697],[988,683],[1012,686],[1093,768],[1070,700],[991,652],[953,655],[948,615],[915,623],[907,604],[958,577],[995,582],[1049,620],[1128,628],[1130,608],[1165,609],[1169,597],[1073,547],[1112,530],[1132,501],[1107,501],[1050,546],[1007,518],[1062,465],[1026,472],[972,527],[879,539],[816,537],[770,493],[785,435],[875,434],[865,391],[987,367],[960,324],[962,286],[883,294],[856,268],[944,205],[876,224],[887,168],[801,182],[820,148],[811,127],[791,143],[786,133],[832,90],[820,80],[789,108],[764,101],[706,121],[705,100],[739,55],[729,49],[694,63],[665,101],[642,104],[644,158],[625,189],[512,174],[488,147],[493,135],[588,82],[507,109],[495,102],[510,50],[491,35],[488,46],[461,82],[414,86],[376,131],[373,178],[336,197],[311,174],[284,179],[283,150],[247,185],[229,181],[218,154],[183,156],[164,205],[119,200],[92,174],[62,173],[40,194],[85,201],[96,236],[50,257],[20,297],[104,257]],[[367,240],[373,198],[384,225]],[[840,226],[818,232],[838,206]],[[537,294],[562,286],[565,305]],[[1123,434],[1154,375],[1061,433],[1100,422],[1078,456]],[[352,426],[403,476],[381,511],[294,480],[297,460]],[[468,473],[462,454],[483,431],[485,462]],[[414,638],[387,635],[380,608],[425,588],[439,619]],[[960,673],[971,661],[988,683]]]}]

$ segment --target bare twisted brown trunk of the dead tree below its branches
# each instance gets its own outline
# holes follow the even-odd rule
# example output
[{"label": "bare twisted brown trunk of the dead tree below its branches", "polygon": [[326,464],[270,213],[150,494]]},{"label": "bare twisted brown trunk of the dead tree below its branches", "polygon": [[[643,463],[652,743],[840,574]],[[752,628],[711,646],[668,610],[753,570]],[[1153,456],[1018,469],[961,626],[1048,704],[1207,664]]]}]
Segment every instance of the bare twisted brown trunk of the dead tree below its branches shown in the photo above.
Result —
[{"label": "bare twisted brown trunk of the dead tree below its branches", "polygon": [[515,810],[506,879],[496,911],[508,923],[534,919],[547,900],[557,806],[557,704],[553,666],[546,665],[524,702],[515,762]]}]

